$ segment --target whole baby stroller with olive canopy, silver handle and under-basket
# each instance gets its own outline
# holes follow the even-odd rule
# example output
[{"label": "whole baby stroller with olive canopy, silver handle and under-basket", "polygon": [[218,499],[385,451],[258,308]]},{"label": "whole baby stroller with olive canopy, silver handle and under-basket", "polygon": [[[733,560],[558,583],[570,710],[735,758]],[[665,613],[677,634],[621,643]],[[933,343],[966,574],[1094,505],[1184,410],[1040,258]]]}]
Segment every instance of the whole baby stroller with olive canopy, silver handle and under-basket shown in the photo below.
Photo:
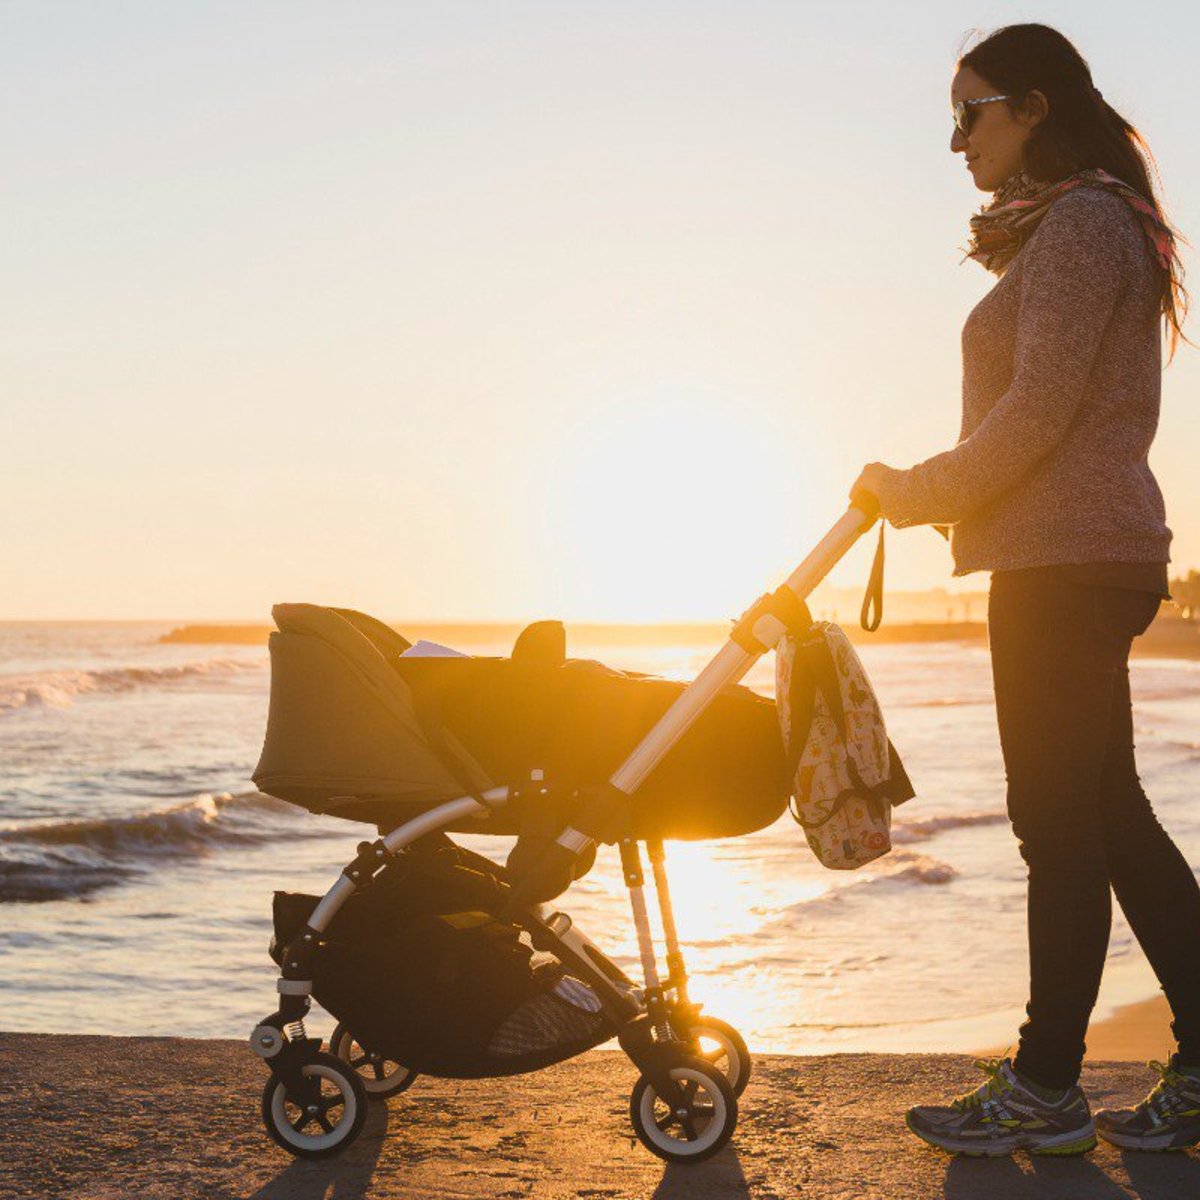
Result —
[{"label": "whole baby stroller with olive canopy, silver handle and under-basket", "polygon": [[[804,598],[874,524],[868,508],[856,498],[686,686],[570,660],[557,622],[526,629],[506,659],[425,658],[353,610],[272,610],[254,782],[379,832],[323,898],[275,896],[280,1002],[250,1043],[271,1072],[262,1111],[278,1145],[334,1154],[371,1098],[420,1074],[535,1070],[611,1038],[641,1073],[630,1121],[649,1151],[694,1163],[726,1145],[750,1055],[689,996],[664,841],[739,836],[785,810],[775,706],[737,684],[811,625]],[[502,868],[449,833],[516,840]],[[641,984],[551,905],[598,844],[620,852]],[[305,1030],[312,1000],[338,1022],[328,1051]]]}]

